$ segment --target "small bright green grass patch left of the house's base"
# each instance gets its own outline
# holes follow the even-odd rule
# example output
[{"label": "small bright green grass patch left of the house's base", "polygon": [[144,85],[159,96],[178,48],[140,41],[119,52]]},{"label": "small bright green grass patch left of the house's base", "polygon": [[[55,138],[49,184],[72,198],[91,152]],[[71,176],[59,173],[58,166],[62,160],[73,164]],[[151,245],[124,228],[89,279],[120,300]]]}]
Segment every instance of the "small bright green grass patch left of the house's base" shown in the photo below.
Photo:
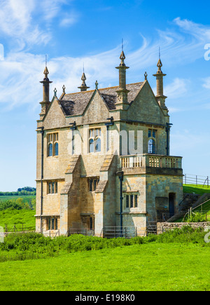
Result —
[{"label": "small bright green grass patch left of the house's base", "polygon": [[3,210],[0,211],[0,226],[8,225],[8,231],[13,231],[15,225],[18,231],[22,231],[22,224],[24,231],[35,230],[36,219],[34,215],[35,210]]}]

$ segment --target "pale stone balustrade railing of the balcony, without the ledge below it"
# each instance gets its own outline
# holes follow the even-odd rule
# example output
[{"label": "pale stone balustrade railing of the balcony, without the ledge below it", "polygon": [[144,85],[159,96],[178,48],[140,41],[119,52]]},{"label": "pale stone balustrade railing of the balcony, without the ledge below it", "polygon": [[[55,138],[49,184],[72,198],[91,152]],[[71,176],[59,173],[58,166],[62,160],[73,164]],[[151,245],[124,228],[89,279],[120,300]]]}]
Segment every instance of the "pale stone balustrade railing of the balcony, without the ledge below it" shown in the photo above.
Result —
[{"label": "pale stone balustrade railing of the balcony, without the ledge below it", "polygon": [[121,156],[121,168],[182,168],[182,157],[143,154]]}]

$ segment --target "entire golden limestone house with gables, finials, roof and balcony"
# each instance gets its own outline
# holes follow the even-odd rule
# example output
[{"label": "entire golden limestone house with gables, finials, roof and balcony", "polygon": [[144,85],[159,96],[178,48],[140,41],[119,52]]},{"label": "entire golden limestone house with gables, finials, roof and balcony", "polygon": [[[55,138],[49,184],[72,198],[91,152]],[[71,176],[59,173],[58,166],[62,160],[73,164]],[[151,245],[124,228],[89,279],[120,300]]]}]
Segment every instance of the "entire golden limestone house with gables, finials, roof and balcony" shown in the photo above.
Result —
[{"label": "entire golden limestone house with gables, finials, roof and balcony", "polygon": [[37,126],[36,231],[66,234],[82,229],[102,236],[103,228],[134,228],[174,215],[183,198],[182,158],[169,156],[169,114],[163,95],[145,80],[126,84],[120,55],[120,86],[88,90],[49,101],[45,69]]}]

